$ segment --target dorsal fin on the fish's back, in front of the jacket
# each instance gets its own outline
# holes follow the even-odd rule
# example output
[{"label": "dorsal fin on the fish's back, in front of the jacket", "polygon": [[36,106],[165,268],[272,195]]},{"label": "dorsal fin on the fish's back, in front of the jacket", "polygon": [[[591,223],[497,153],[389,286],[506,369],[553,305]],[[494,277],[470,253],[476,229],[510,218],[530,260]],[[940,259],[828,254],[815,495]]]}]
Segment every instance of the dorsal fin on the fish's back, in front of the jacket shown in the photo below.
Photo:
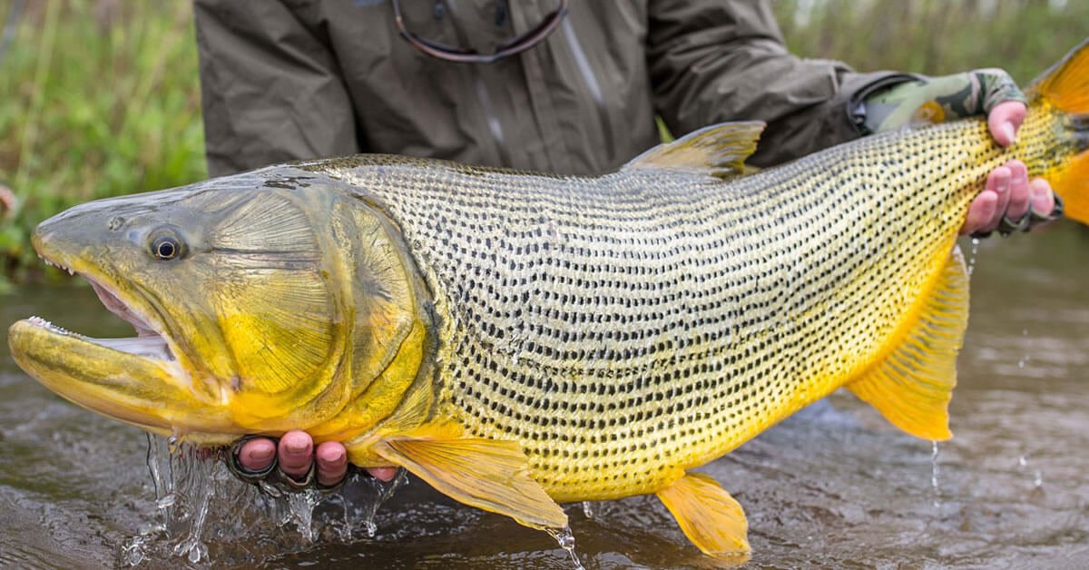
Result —
[{"label": "dorsal fin on the fish's back, in front of the jacket", "polygon": [[705,126],[647,150],[624,165],[624,170],[680,170],[718,178],[744,174],[745,159],[756,151],[763,126],[762,121]]}]

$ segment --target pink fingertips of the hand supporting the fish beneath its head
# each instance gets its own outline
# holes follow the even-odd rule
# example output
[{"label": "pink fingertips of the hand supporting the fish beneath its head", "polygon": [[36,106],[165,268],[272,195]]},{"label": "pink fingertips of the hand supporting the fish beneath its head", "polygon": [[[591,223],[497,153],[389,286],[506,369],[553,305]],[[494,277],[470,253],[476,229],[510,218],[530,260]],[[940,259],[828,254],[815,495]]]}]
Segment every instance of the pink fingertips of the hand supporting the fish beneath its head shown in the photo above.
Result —
[{"label": "pink fingertips of the hand supporting the fish beneath its head", "polygon": [[[306,482],[311,468],[319,487],[334,487],[347,475],[347,450],[339,441],[325,441],[315,449],[309,434],[292,430],[279,442],[266,437],[255,437],[236,446],[237,468],[246,477],[279,470],[295,482]],[[391,481],[396,468],[367,469],[375,478]]]}]

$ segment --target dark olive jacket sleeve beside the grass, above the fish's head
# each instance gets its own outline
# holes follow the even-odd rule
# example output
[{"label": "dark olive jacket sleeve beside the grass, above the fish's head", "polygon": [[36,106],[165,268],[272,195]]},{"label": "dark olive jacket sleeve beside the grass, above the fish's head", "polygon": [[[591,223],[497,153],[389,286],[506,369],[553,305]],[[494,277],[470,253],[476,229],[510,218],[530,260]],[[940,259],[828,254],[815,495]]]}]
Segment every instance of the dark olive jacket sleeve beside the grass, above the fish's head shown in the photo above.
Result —
[{"label": "dark olive jacket sleeve beside the grass, above the fish's head", "polygon": [[197,0],[208,172],[358,151],[335,58],[279,0]]}]

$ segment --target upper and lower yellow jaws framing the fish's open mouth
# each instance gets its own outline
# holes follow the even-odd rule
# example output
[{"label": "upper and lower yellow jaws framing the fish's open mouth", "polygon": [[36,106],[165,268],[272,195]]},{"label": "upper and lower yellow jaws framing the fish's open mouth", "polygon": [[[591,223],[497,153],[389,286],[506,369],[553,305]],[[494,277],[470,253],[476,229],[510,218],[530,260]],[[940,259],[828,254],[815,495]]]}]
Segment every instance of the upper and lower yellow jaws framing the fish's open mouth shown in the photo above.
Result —
[{"label": "upper and lower yellow jaws framing the fish's open mouth", "polygon": [[222,400],[208,389],[194,389],[192,367],[154,304],[136,291],[125,292],[113,271],[90,260],[95,255],[85,245],[54,229],[71,223],[69,217],[64,213],[38,226],[34,248],[46,264],[87,280],[136,337],[95,339],[32,317],[9,329],[15,363],[76,405],[142,429],[209,444],[235,437],[228,435],[238,429]]}]

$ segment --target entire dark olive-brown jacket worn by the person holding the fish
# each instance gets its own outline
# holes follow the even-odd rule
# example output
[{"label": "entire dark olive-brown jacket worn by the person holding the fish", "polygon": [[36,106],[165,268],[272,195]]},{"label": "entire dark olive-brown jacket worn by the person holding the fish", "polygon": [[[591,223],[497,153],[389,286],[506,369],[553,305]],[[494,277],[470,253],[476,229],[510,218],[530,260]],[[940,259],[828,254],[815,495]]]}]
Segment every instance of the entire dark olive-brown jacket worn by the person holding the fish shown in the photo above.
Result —
[{"label": "entire dark olive-brown jacket worn by the person holding the fish", "polygon": [[[418,36],[489,53],[556,5],[401,3]],[[572,0],[491,64],[418,52],[389,0],[196,0],[196,24],[213,175],[360,151],[597,174],[658,144],[656,116],[678,136],[767,121],[769,165],[859,136],[860,97],[903,77],[792,56],[758,0]]]}]

